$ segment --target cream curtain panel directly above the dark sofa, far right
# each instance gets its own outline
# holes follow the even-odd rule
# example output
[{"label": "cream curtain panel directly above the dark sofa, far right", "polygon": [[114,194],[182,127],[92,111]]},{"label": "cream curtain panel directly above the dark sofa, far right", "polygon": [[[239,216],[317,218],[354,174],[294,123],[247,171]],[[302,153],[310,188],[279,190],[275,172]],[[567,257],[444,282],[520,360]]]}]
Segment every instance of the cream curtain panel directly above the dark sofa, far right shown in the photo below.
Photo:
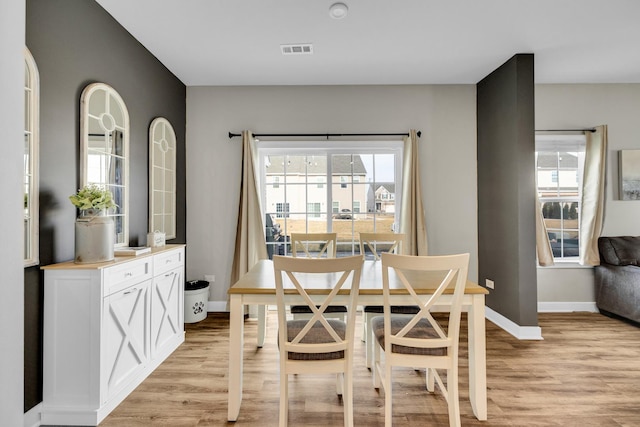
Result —
[{"label": "cream curtain panel directly above the dark sofa, far right", "polygon": [[607,126],[587,132],[580,208],[580,264],[599,265],[598,237],[604,219],[604,179],[607,161]]}]

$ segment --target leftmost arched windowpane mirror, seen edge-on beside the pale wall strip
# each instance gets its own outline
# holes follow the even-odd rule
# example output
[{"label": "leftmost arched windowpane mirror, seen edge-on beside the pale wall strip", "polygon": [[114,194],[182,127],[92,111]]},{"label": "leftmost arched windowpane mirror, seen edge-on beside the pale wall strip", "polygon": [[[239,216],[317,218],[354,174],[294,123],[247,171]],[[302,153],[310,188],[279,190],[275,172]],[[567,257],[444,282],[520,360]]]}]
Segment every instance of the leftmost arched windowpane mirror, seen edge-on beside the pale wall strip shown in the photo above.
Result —
[{"label": "leftmost arched windowpane mirror, seen edge-on beside the pale wall strip", "polygon": [[39,75],[29,52],[24,50],[24,265],[37,265],[38,247],[38,160],[39,160]]}]

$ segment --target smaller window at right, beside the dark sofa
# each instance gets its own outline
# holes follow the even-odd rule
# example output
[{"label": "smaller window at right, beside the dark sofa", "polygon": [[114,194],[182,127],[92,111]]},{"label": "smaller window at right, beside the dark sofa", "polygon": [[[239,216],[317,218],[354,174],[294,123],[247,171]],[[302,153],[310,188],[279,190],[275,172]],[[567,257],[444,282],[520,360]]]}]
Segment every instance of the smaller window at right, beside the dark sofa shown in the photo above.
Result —
[{"label": "smaller window at right, beside the dark sofa", "polygon": [[538,197],[556,260],[579,256],[584,150],[583,135],[536,136]]}]

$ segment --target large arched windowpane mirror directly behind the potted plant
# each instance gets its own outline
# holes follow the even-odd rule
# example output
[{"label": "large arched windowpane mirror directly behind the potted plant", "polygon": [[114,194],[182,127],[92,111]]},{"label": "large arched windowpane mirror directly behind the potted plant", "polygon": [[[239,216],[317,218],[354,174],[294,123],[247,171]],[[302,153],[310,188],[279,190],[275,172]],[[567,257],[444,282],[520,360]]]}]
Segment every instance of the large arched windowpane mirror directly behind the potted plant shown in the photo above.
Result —
[{"label": "large arched windowpane mirror directly behind the potted plant", "polygon": [[82,92],[80,184],[97,184],[113,194],[115,246],[129,244],[129,112],[111,86],[93,83]]}]

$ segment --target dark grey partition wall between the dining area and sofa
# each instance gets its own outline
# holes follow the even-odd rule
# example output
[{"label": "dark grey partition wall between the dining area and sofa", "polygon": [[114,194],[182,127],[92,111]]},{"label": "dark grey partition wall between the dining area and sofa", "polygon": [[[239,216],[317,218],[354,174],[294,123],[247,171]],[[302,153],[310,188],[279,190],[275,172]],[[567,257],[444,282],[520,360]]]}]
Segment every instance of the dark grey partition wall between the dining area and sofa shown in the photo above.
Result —
[{"label": "dark grey partition wall between the dining area and sofa", "polygon": [[478,277],[487,306],[537,326],[533,55],[516,55],[477,85]]}]

